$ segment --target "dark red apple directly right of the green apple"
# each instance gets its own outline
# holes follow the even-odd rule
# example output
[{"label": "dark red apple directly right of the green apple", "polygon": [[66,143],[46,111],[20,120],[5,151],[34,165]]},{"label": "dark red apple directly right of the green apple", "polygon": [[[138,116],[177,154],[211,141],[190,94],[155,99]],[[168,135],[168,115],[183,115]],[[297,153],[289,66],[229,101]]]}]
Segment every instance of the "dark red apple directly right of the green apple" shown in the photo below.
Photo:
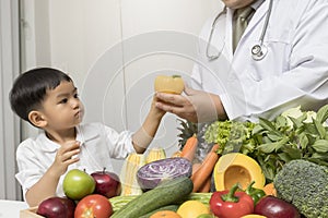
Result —
[{"label": "dark red apple directly right of the green apple", "polygon": [[120,180],[114,172],[108,172],[106,169],[91,173],[91,177],[96,182],[94,193],[106,196],[107,198],[119,195]]}]

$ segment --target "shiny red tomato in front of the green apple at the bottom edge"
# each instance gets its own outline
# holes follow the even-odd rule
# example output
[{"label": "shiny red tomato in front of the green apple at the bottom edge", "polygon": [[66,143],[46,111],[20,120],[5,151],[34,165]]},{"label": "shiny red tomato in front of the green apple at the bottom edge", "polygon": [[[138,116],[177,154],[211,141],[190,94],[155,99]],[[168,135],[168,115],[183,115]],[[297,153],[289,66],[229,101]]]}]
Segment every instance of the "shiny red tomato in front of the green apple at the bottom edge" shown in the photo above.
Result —
[{"label": "shiny red tomato in front of the green apple at the bottom edge", "polygon": [[91,194],[78,203],[74,218],[108,218],[112,214],[113,207],[105,196]]}]

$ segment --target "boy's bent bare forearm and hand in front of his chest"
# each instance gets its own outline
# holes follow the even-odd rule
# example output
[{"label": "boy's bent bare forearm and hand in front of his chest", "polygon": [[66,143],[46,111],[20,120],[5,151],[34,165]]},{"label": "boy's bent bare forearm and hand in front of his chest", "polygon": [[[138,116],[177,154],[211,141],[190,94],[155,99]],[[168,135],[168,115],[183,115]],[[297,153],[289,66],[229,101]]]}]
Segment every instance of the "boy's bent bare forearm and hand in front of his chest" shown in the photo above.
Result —
[{"label": "boy's bent bare forearm and hand in front of his chest", "polygon": [[62,145],[58,149],[54,164],[25,194],[31,207],[37,206],[48,197],[56,196],[60,177],[66,173],[69,165],[79,161],[78,157],[72,158],[80,153],[79,148],[80,144],[75,142]]}]

